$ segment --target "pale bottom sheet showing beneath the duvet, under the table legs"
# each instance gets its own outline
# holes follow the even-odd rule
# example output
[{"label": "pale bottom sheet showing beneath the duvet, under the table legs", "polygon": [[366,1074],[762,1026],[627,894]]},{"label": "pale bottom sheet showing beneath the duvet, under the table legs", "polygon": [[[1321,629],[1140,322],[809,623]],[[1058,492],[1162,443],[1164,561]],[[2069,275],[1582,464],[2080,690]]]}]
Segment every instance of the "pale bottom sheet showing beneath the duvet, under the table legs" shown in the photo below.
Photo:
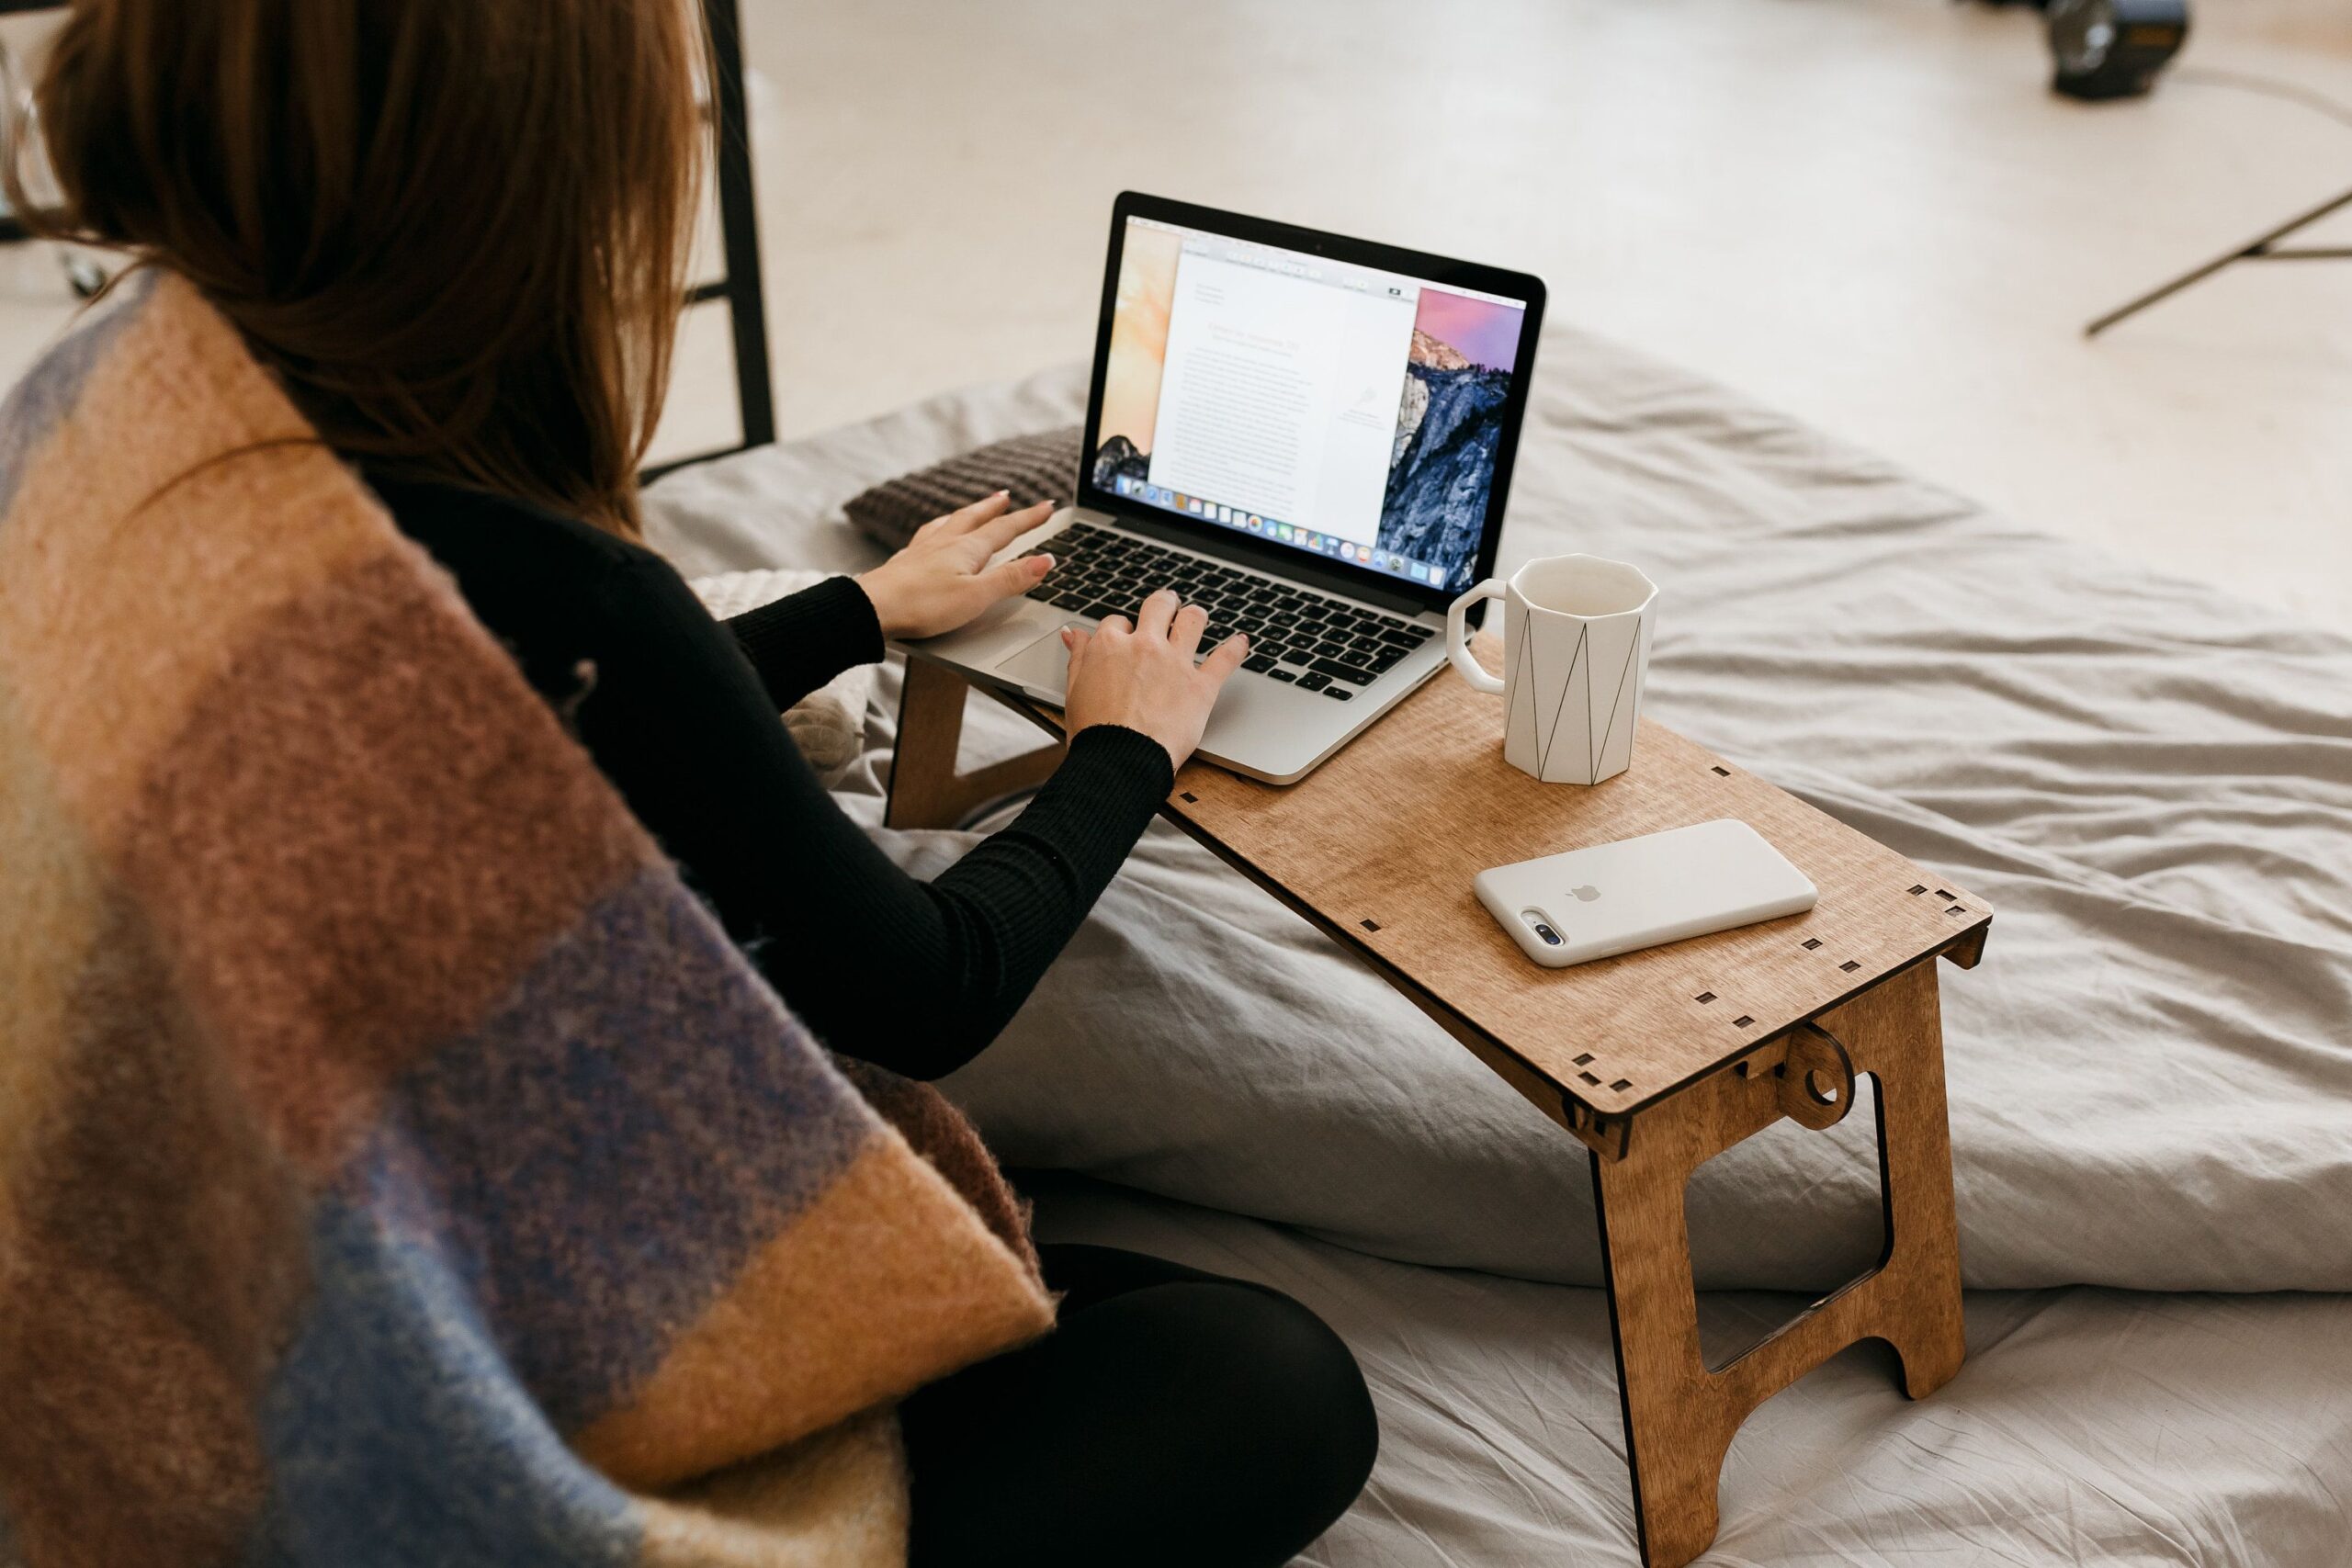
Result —
[{"label": "pale bottom sheet showing beneath the duvet, under the table legs", "polygon": [[[1040,1237],[1289,1291],[1355,1349],[1381,1413],[1371,1486],[1298,1563],[1602,1568],[1635,1556],[1599,1291],[1367,1258],[1084,1178]],[[1710,1293],[1755,1340],[1788,1295]],[[2331,1295],[1971,1291],[1969,1361],[1907,1401],[1849,1349],[1740,1427],[1698,1568],[2343,1568],[2352,1305]]]}]

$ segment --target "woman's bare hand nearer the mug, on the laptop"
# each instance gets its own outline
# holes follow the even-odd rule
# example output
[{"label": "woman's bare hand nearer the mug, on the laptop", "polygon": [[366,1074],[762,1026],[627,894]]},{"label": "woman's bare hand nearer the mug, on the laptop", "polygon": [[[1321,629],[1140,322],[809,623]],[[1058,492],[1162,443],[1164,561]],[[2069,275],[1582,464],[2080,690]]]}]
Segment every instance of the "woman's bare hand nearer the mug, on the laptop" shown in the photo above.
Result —
[{"label": "woman's bare hand nearer the mug, on the laptop", "polygon": [[1216,693],[1225,677],[1249,658],[1249,637],[1235,632],[1197,668],[1202,628],[1209,614],[1197,604],[1178,607],[1176,592],[1162,588],[1136,609],[1134,630],[1127,616],[1105,616],[1089,635],[1063,628],[1070,649],[1070,693],[1061,717],[1070,733],[1089,724],[1124,724],[1169,748],[1169,762],[1183,769],[1209,724]]}]

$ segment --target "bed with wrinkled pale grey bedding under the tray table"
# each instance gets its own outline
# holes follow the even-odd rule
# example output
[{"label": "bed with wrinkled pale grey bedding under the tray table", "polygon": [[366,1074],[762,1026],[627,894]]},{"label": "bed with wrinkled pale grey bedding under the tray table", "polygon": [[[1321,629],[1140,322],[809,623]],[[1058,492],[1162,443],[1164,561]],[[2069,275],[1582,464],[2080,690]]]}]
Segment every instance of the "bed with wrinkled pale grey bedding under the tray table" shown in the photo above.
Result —
[{"label": "bed with wrinkled pale grey bedding under the tray table", "polygon": [[[1656,717],[1997,910],[1945,985],[1969,1366],[1907,1403],[1856,1347],[1769,1401],[1700,1561],[2352,1561],[2352,639],[1597,336],[1541,364],[1503,567],[1644,564]],[[1082,402],[1056,369],[691,468],[649,534],[689,576],[856,569],[849,496]],[[880,827],[894,679],[833,783],[931,870],[971,835]],[[1432,1034],[1155,827],[948,1088],[1040,1234],[1265,1279],[1357,1349],[1381,1462],[1303,1561],[1632,1563],[1583,1157]],[[1860,1121],[1693,1178],[1710,1342],[1867,1258]]]}]

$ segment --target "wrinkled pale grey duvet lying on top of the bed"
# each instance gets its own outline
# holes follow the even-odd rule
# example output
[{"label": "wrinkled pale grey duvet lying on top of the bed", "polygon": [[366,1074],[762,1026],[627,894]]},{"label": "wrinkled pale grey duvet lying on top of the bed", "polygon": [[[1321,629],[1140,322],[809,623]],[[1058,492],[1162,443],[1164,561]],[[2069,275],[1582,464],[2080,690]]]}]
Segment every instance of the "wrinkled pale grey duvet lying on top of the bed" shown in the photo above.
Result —
[{"label": "wrinkled pale grey duvet lying on top of the bed", "polygon": [[[1966,1281],[2352,1288],[2352,642],[2004,524],[1611,343],[1557,329],[1541,364],[1505,569],[1639,562],[1663,585],[1656,717],[1992,900],[1985,966],[1945,969]],[[656,538],[689,574],[866,562],[840,501],[1070,423],[1082,390],[1035,376],[689,470]],[[868,820],[884,766],[847,785]],[[971,842],[884,837],[920,870]],[[950,1088],[1023,1164],[1599,1281],[1583,1152],[1167,827]],[[1867,1138],[1849,1117],[1710,1161],[1700,1281],[1849,1276]]]}]

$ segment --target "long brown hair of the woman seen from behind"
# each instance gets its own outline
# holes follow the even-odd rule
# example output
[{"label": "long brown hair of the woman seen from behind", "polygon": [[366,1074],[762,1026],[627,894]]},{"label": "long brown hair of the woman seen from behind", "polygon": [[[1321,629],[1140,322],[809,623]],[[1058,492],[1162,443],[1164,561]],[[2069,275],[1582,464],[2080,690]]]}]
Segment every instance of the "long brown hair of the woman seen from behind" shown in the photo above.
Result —
[{"label": "long brown hair of the woman seen from behind", "polygon": [[687,5],[78,0],[40,226],[188,277],[332,447],[635,534],[703,169]]}]

